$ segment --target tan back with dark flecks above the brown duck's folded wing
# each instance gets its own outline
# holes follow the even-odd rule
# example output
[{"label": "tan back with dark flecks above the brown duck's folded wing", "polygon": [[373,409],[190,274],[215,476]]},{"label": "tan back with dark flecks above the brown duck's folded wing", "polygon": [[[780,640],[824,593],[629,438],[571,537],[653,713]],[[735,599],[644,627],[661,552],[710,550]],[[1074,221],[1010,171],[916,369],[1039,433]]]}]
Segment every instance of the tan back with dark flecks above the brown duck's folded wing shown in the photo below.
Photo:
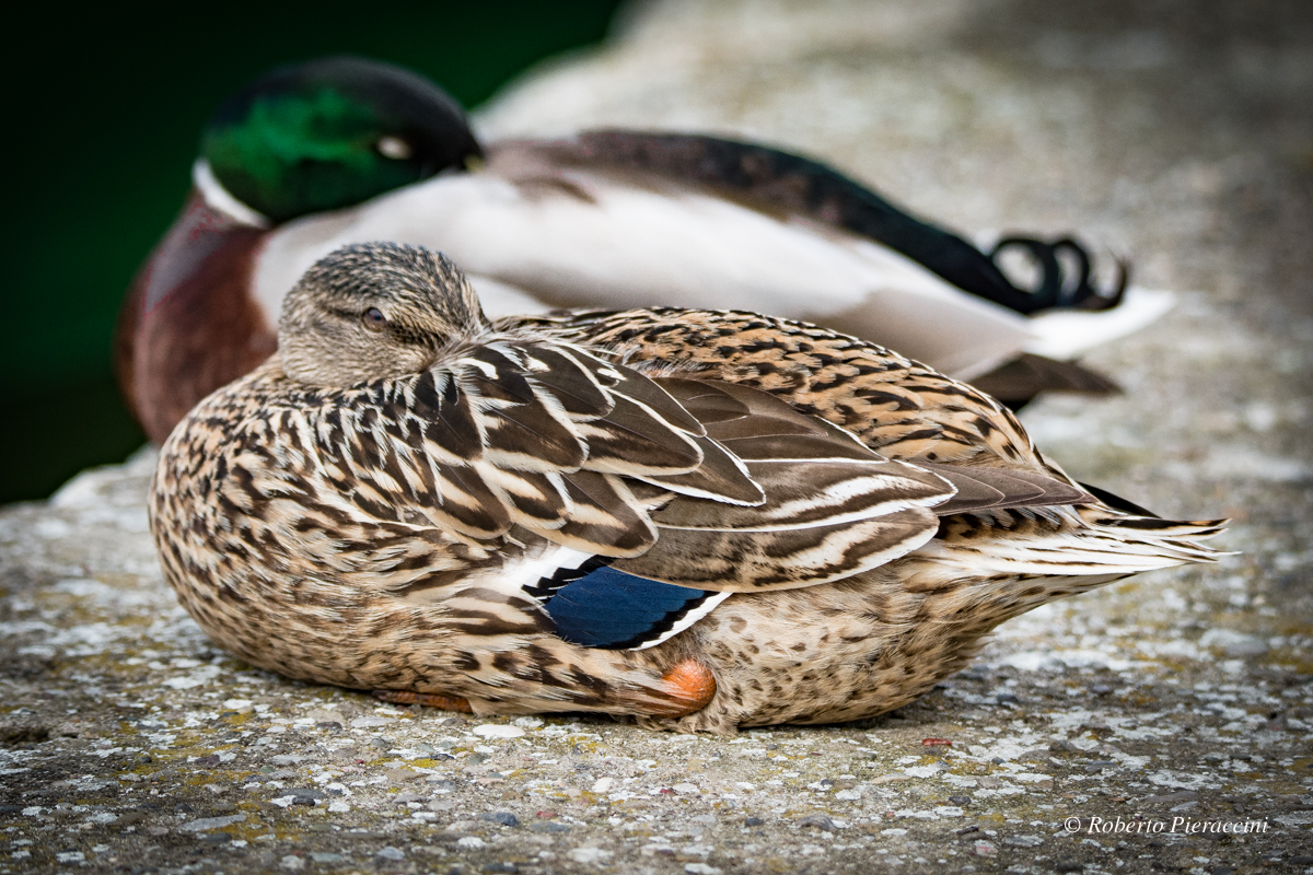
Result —
[{"label": "tan back with dark flecks above the brown duck's folded wing", "polygon": [[611,349],[639,370],[742,383],[840,425],[905,462],[999,464],[1052,474],[1004,405],[857,337],[750,312],[679,308],[512,317]]}]

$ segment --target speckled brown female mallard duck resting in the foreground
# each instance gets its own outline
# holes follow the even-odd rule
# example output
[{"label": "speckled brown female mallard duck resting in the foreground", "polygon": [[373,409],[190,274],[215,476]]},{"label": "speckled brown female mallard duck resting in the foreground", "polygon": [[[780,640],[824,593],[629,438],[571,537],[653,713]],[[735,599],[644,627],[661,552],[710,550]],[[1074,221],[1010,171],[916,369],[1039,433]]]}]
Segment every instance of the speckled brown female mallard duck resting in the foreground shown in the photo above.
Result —
[{"label": "speckled brown female mallard duck resting in the foreground", "polygon": [[898,707],[1011,617],[1212,559],[1218,523],[1075,485],[999,403],[853,337],[491,323],[445,257],[369,244],[314,265],[278,353],[173,430],[151,529],[255,665],[733,732]]}]

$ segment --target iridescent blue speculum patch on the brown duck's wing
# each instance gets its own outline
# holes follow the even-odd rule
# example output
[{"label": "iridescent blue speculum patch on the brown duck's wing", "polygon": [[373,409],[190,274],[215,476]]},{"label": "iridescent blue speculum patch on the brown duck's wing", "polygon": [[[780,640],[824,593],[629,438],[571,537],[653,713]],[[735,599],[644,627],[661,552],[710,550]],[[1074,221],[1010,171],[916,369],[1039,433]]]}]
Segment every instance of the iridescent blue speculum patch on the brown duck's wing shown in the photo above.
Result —
[{"label": "iridescent blue speculum patch on the brown duck's wing", "polygon": [[629,649],[655,641],[714,596],[600,565],[557,589],[542,607],[571,644]]}]

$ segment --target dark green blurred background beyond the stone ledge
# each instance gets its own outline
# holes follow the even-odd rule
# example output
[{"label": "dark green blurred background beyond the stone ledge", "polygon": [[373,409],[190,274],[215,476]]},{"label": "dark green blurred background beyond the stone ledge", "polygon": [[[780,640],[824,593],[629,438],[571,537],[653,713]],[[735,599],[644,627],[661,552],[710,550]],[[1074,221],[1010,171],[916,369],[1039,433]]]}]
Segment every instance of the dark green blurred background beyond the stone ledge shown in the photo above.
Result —
[{"label": "dark green blurred background beyond the stone ledge", "polygon": [[0,502],[43,497],[144,441],[114,386],[114,319],[183,205],[223,97],[276,64],[353,52],[427,73],[473,108],[533,63],[600,41],[617,5],[217,4],[181,16],[45,4],[9,18]]}]

